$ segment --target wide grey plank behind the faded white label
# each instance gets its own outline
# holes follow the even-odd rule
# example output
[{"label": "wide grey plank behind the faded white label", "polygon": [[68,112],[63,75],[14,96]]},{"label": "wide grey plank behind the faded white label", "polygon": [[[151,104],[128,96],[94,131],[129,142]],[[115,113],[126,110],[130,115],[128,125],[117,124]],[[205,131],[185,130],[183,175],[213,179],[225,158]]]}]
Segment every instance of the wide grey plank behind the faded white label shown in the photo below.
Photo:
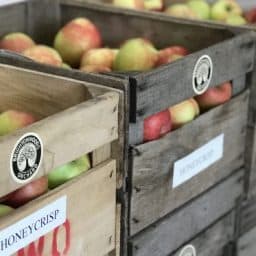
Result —
[{"label": "wide grey plank behind the faded white label", "polygon": [[[247,91],[235,97],[158,141],[135,147],[130,207],[131,235],[244,165],[248,95]],[[223,158],[186,183],[172,188],[174,163],[222,133]]]}]

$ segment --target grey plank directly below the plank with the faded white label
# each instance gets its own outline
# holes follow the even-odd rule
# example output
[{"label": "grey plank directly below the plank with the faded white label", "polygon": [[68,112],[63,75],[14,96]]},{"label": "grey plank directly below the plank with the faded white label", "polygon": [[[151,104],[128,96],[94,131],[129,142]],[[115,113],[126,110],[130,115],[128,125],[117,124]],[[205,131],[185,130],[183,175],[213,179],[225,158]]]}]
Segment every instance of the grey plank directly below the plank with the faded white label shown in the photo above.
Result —
[{"label": "grey plank directly below the plank with the faded white label", "polygon": [[155,223],[130,240],[133,256],[164,256],[177,250],[235,206],[243,193],[244,170]]}]

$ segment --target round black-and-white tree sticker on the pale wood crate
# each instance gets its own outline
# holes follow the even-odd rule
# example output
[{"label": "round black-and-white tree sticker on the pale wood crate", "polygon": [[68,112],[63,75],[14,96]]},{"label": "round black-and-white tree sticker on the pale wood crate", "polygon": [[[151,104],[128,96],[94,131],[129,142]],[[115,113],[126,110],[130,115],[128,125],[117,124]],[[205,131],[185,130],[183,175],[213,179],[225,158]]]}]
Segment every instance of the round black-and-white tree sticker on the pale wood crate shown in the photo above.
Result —
[{"label": "round black-and-white tree sticker on the pale wood crate", "polygon": [[23,135],[15,144],[10,168],[14,180],[25,183],[31,180],[39,170],[43,158],[43,143],[35,133]]}]

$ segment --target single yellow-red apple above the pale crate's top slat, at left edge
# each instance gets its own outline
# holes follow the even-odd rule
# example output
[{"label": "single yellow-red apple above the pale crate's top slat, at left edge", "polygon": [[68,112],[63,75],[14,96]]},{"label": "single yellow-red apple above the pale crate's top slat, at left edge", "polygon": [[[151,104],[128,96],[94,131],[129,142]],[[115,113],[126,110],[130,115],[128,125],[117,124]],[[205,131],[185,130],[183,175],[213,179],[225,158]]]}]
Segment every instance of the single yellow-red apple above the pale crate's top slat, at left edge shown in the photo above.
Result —
[{"label": "single yellow-red apple above the pale crate's top slat, at left edge", "polygon": [[0,114],[0,136],[28,126],[35,121],[35,118],[29,113],[7,110]]}]

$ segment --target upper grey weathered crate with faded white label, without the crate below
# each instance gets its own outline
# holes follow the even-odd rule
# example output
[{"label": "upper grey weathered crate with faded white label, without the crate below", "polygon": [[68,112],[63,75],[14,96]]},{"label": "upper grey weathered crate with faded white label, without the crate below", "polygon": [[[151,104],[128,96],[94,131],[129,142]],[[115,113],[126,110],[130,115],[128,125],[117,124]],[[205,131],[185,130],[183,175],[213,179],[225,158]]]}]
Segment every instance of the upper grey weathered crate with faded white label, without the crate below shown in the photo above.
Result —
[{"label": "upper grey weathered crate with faded white label, without the crate below", "polygon": [[[43,11],[46,7],[47,14]],[[15,19],[7,19],[10,16]],[[117,46],[130,37],[142,36],[152,40],[159,48],[181,44],[193,52],[184,59],[149,72],[95,76],[46,67],[15,56],[8,57],[6,53],[0,56],[2,63],[91,82],[102,79],[105,85],[124,91],[126,115],[123,117],[122,128],[125,147],[120,152],[124,153],[125,182],[124,190],[119,191],[118,197],[125,206],[122,209],[122,230],[125,233],[122,235],[122,246],[125,247],[127,235],[133,236],[244,166],[249,93],[247,87],[251,85],[254,68],[255,34],[235,36],[225,28],[215,28],[203,23],[190,24],[188,21],[163,15],[115,10],[75,0],[35,0],[0,8],[0,18],[6,20],[0,22],[0,35],[10,31],[23,31],[38,42],[52,43],[60,26],[78,16],[88,17],[95,22],[105,43],[110,46]],[[112,27],[115,30],[110,29]],[[143,144],[142,127],[146,117],[195,95],[191,82],[192,73],[196,62],[203,55],[209,55],[214,66],[210,87],[232,80],[233,100],[159,141]],[[112,79],[111,82],[107,78]],[[191,133],[193,137],[190,136]],[[224,157],[187,183],[172,189],[170,184],[174,162],[223,133]],[[121,133],[120,135],[122,136]],[[167,158],[169,161],[164,164],[163,160]],[[141,165],[143,161],[145,165]],[[123,162],[120,163],[121,167]],[[155,167],[161,168],[161,171],[156,172]],[[149,203],[152,200],[155,204]]]}]

